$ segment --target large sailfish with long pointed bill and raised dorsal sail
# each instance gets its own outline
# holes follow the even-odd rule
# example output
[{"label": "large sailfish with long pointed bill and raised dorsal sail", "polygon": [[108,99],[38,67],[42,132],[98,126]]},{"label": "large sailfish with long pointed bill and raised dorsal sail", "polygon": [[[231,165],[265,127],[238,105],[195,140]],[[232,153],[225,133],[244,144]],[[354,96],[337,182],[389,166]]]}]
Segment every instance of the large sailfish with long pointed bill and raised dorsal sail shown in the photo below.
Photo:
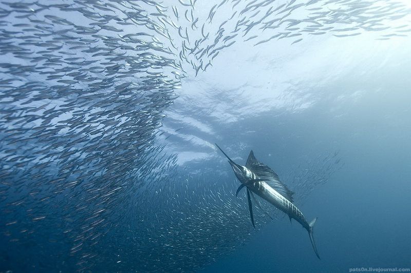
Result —
[{"label": "large sailfish with long pointed bill and raised dorsal sail", "polygon": [[[320,259],[313,236],[313,226],[317,218],[314,218],[310,223],[307,222],[301,210],[293,203],[293,192],[279,180],[278,175],[270,169],[270,167],[259,162],[254,157],[254,152],[252,150],[248,156],[246,166],[242,166],[231,160],[217,144],[216,146],[228,158],[228,162],[233,168],[235,176],[241,182],[241,185],[237,189],[236,196],[242,188],[246,187],[247,189],[248,207],[254,228],[255,224],[251,198],[255,202],[256,200],[253,193],[286,213],[290,218],[290,221],[291,219],[295,219],[300,223],[308,231],[312,248],[314,249],[315,255]],[[258,205],[258,202],[256,203]]]}]

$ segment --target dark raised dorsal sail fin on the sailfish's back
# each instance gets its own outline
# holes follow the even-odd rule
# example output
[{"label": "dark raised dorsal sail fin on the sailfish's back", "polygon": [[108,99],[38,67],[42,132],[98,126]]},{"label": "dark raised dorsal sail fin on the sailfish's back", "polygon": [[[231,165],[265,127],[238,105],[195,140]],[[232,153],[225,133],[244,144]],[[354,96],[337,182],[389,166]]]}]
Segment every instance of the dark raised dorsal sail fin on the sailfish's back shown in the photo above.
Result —
[{"label": "dark raised dorsal sail fin on the sailfish's back", "polygon": [[278,178],[276,174],[270,167],[259,162],[254,157],[254,152],[251,150],[248,155],[246,167],[253,171],[259,179],[263,179],[270,187],[275,189],[279,194],[284,196],[288,201],[293,202],[292,192],[286,185],[284,185]]}]

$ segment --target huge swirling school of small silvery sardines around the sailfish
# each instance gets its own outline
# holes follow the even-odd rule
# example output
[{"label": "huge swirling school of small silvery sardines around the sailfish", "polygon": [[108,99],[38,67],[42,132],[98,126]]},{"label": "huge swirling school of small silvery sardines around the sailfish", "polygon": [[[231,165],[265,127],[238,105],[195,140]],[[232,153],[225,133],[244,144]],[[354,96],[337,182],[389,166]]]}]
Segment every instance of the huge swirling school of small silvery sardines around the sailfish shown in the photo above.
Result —
[{"label": "huge swirling school of small silvery sardines around the sailfish", "polygon": [[[238,43],[406,36],[409,14],[395,0],[1,2],[0,271],[192,271],[231,251],[251,231],[236,184],[190,175],[157,141],[181,80]],[[300,200],[339,166],[320,155],[291,175]]]}]

